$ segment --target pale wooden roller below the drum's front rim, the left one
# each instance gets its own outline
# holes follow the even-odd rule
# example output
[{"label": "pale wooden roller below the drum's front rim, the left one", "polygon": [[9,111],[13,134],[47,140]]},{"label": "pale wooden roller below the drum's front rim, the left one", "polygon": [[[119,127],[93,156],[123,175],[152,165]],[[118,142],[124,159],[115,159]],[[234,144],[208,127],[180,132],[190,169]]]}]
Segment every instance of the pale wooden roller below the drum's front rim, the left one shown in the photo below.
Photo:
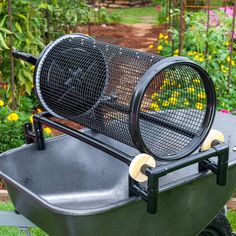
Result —
[{"label": "pale wooden roller below the drum's front rim, the left one", "polygon": [[142,170],[143,166],[156,167],[156,160],[152,156],[145,153],[137,155],[132,160],[129,166],[129,174],[134,180],[138,182],[144,182],[148,179]]}]

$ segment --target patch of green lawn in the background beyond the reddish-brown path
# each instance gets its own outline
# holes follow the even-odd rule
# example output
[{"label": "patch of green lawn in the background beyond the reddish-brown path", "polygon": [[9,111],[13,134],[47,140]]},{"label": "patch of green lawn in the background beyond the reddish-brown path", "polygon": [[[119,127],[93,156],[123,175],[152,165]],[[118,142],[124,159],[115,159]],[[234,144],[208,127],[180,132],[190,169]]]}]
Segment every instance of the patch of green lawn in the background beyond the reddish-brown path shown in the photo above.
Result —
[{"label": "patch of green lawn in the background beyond the reddish-brown path", "polygon": [[[116,14],[120,17],[121,24],[144,23],[145,17],[157,18],[157,10],[155,7],[131,7],[125,9],[113,9],[111,14]],[[156,20],[156,23],[157,20]]]}]

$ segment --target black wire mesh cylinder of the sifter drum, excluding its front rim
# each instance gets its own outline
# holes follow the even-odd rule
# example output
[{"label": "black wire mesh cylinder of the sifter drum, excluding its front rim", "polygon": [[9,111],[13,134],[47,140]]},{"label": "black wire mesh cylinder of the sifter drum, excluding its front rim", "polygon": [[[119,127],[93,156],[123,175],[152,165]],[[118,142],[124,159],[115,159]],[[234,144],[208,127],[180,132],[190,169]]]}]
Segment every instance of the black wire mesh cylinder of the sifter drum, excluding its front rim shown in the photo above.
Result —
[{"label": "black wire mesh cylinder of the sifter drum, excluding its front rim", "polygon": [[199,145],[196,137],[202,135],[203,126],[210,125],[206,118],[211,114],[206,111],[212,104],[206,93],[209,81],[204,82],[190,65],[173,65],[152,78],[142,94],[138,127],[133,127],[130,105],[136,86],[162,59],[67,35],[44,50],[36,67],[35,88],[44,108],[54,116],[134,147],[137,140],[130,132],[137,129],[144,146],[140,150],[171,159]]}]

